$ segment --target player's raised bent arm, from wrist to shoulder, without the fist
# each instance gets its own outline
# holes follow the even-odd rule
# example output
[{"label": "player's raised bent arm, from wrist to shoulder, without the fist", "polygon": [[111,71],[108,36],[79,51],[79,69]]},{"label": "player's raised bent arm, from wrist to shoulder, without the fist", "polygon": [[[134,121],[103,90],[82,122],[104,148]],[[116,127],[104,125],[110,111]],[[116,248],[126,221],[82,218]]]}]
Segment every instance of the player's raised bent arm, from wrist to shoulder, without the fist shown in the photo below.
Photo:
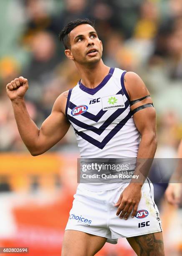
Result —
[{"label": "player's raised bent arm, from wrist to shoulder, without the fist", "polygon": [[56,99],[51,115],[46,118],[40,129],[31,120],[23,98],[12,100],[18,131],[31,155],[43,154],[67,133],[70,124],[64,114],[67,100],[65,95],[64,92]]}]

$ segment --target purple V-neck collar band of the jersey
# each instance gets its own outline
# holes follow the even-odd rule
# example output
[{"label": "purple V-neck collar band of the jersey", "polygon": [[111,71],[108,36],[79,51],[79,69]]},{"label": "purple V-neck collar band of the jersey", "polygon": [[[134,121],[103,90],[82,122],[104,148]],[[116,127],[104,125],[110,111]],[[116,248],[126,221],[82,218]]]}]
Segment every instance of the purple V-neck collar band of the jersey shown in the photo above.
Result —
[{"label": "purple V-neck collar band of the jersey", "polygon": [[99,90],[101,90],[102,87],[104,87],[104,85],[109,81],[109,79],[112,77],[114,73],[114,68],[110,68],[109,73],[106,75],[106,77],[104,77],[104,79],[102,80],[102,82],[95,87],[94,89],[88,88],[85,85],[83,85],[81,83],[81,80],[78,82],[80,89],[83,92],[86,92],[88,94],[94,95],[96,92],[98,92]]}]

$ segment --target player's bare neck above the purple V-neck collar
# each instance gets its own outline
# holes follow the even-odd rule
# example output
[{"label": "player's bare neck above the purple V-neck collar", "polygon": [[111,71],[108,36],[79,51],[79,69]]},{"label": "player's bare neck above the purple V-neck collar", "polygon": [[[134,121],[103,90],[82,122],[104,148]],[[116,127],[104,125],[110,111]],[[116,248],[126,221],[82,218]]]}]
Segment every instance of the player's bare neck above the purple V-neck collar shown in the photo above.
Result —
[{"label": "player's bare neck above the purple V-neck collar", "polygon": [[98,63],[94,63],[93,66],[82,66],[76,63],[78,72],[81,75],[81,83],[88,88],[95,88],[102,82],[104,77],[109,73],[109,67],[107,67],[102,60]]}]

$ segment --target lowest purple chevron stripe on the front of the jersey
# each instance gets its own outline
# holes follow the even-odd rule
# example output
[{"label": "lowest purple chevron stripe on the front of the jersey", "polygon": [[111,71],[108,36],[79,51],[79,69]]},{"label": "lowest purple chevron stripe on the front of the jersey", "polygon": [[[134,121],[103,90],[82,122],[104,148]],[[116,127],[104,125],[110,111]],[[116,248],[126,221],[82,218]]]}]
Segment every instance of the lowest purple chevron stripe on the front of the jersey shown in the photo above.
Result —
[{"label": "lowest purple chevron stripe on the front of the jersey", "polygon": [[112,129],[112,131],[110,131],[108,133],[108,135],[101,142],[97,141],[96,139],[92,138],[91,136],[88,136],[86,133],[77,131],[75,128],[74,128],[74,130],[84,140],[88,141],[89,143],[93,144],[94,146],[96,146],[98,148],[103,149],[106,146],[106,144],[111,140],[111,138],[113,138],[116,135],[116,133],[118,133],[121,130],[121,128],[127,123],[127,121],[131,118],[131,116],[132,116],[131,111],[129,111],[128,115],[126,115],[126,117],[123,120],[121,120],[121,122],[119,122],[114,127],[114,129]]}]

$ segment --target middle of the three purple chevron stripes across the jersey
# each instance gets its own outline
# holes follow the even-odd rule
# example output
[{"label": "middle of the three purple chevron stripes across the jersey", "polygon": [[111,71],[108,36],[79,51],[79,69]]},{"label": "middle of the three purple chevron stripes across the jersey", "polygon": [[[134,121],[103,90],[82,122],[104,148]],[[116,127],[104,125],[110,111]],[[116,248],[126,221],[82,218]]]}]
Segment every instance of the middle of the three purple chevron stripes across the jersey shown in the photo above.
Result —
[{"label": "middle of the three purple chevron stripes across the jersey", "polygon": [[117,109],[112,115],[109,116],[109,118],[99,127],[99,128],[96,128],[92,125],[87,125],[86,123],[83,123],[81,121],[79,121],[78,119],[76,118],[73,118],[72,116],[68,115],[68,119],[78,125],[79,127],[81,128],[84,128],[86,130],[89,130],[89,131],[93,131],[94,133],[98,134],[98,135],[101,135],[105,129],[117,118],[119,117],[119,115],[121,115],[125,110],[126,108],[128,108],[129,106],[129,102],[127,101],[126,102],[126,105],[125,105],[125,108],[119,108]]}]

